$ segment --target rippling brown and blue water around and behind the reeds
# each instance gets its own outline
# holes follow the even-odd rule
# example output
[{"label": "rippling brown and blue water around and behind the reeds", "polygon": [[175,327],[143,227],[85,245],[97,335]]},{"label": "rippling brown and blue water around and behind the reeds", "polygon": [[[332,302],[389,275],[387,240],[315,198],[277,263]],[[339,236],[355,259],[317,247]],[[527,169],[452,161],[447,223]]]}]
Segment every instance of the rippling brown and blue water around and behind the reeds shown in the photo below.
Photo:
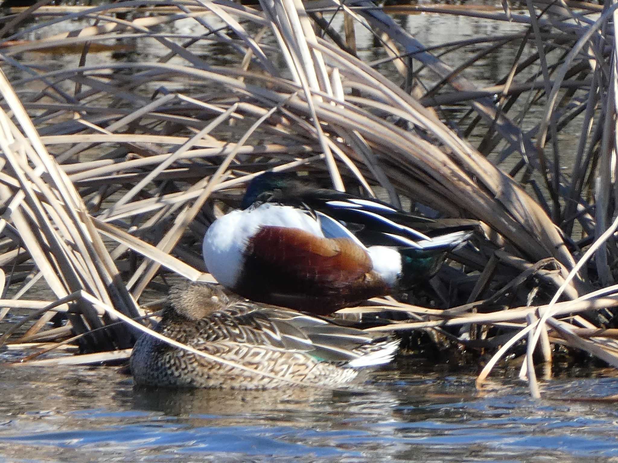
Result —
[{"label": "rippling brown and blue water around and behind the reeds", "polygon": [[[428,45],[523,30],[442,14],[398,20]],[[358,31],[357,38],[365,41],[365,59],[384,57],[370,36]],[[131,55],[158,56],[140,43]],[[101,53],[91,64],[127,58]],[[75,57],[19,59],[51,69]],[[469,77],[493,82],[511,62],[502,49]],[[14,68],[2,69],[20,78]],[[38,90],[19,89],[23,96]],[[568,137],[561,143],[573,144]],[[15,359],[0,352],[0,462],[618,462],[618,407],[594,400],[618,394],[618,380],[606,371],[552,378],[534,401],[516,373],[495,373],[477,391],[475,372],[404,358],[334,392],[137,390],[118,367],[7,366]]]}]

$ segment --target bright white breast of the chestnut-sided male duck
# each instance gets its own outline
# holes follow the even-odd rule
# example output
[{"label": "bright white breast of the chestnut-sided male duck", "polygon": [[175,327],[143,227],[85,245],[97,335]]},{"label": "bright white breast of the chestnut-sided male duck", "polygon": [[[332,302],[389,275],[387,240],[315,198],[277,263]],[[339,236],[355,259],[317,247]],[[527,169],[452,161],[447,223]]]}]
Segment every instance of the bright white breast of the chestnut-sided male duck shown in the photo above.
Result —
[{"label": "bright white breast of the chestnut-sided male duck", "polygon": [[208,272],[222,285],[234,288],[240,278],[249,239],[266,226],[300,228],[315,236],[324,236],[320,223],[294,207],[266,203],[253,209],[232,211],[215,220],[206,230],[202,251]]}]

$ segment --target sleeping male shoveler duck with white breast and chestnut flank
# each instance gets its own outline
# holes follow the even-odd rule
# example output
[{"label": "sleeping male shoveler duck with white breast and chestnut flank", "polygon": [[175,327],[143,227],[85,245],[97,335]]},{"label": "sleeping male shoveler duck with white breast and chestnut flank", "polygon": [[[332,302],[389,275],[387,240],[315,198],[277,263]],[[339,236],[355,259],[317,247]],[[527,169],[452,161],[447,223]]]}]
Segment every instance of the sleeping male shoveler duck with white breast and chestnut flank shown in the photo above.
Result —
[{"label": "sleeping male shoveler duck with white breast and chestnut flank", "polygon": [[246,298],[321,315],[426,281],[473,228],[420,233],[410,225],[433,220],[281,173],[254,178],[242,207],[206,231],[208,271]]}]

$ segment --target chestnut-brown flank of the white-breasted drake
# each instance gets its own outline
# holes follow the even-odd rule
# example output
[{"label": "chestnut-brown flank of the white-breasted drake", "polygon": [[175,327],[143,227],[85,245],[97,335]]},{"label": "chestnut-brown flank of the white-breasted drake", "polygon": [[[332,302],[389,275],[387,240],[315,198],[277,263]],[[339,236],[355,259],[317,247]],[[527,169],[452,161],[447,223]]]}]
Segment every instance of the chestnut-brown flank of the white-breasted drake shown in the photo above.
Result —
[{"label": "chestnut-brown flank of the white-breasted drake", "polygon": [[317,314],[389,294],[365,249],[352,240],[287,227],[262,227],[249,240],[234,290],[255,301]]}]

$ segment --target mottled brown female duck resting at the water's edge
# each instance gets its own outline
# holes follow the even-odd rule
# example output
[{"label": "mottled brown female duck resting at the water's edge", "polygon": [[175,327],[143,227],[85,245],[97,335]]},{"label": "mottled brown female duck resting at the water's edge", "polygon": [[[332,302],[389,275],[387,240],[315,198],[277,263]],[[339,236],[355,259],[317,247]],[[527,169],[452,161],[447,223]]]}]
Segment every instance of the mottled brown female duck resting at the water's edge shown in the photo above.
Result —
[{"label": "mottled brown female duck resting at the water's edge", "polygon": [[172,288],[156,332],[251,371],[197,356],[146,333],[130,358],[138,385],[338,386],[353,380],[359,367],[390,362],[399,345],[389,336],[234,298],[208,283]]}]

